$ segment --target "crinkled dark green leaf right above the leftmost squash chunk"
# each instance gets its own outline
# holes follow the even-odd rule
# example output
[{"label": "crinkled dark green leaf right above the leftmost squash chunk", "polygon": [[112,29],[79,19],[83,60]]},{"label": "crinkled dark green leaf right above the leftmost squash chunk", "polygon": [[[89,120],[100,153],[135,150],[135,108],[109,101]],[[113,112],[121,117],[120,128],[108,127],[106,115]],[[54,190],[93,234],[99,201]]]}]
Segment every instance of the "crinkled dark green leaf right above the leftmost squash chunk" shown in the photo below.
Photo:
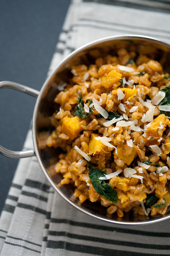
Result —
[{"label": "crinkled dark green leaf right above the leftmost squash chunk", "polygon": [[[82,100],[82,94],[80,92],[78,92],[78,93],[79,93],[79,97],[78,97],[77,105],[74,108],[74,114],[76,116],[81,117],[81,118],[87,118],[91,114],[91,108],[89,108],[89,113],[85,114],[84,107],[83,107],[83,104],[82,104],[82,103],[84,103],[84,101]],[[87,100],[85,103],[88,103],[88,102],[89,102],[89,105],[91,103],[93,103],[92,100]]]}]

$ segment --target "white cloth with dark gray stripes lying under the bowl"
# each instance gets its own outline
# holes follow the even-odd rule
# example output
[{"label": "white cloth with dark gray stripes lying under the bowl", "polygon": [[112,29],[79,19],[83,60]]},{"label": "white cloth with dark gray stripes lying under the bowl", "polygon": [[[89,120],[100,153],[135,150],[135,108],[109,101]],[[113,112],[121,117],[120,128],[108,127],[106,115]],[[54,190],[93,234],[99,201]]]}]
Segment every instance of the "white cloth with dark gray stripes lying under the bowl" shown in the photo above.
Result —
[{"label": "white cloth with dark gray stripes lying under the bowl", "polygon": [[[170,43],[168,0],[73,0],[49,73],[95,39],[141,34]],[[24,148],[33,148],[28,131]],[[45,179],[36,157],[21,159],[0,218],[0,256],[170,255],[170,220],[119,226],[68,204]]]}]

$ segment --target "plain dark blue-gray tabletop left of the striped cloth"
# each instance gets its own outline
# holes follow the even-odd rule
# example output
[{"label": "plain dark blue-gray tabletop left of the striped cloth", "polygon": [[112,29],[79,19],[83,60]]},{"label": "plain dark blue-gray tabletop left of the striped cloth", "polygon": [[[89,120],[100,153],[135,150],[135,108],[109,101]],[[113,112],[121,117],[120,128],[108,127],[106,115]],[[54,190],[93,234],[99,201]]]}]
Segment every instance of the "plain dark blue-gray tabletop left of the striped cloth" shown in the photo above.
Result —
[{"label": "plain dark blue-gray tabletop left of the striped cloth", "polygon": [[[55,51],[70,0],[1,0],[0,81],[40,90]],[[36,98],[0,90],[0,144],[22,150]],[[0,155],[0,212],[18,159]]]}]

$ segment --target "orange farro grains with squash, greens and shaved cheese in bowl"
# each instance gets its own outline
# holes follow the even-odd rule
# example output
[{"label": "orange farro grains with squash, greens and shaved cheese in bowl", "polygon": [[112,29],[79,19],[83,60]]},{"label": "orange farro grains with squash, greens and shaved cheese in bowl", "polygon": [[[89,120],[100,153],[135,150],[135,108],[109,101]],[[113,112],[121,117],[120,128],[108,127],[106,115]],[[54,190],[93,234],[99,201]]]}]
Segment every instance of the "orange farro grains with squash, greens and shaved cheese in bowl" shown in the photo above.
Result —
[{"label": "orange farro grains with squash, greens and shaved cheese in bowl", "polygon": [[56,173],[73,198],[109,215],[165,214],[170,204],[170,76],[125,48],[77,65],[55,102],[47,146],[61,148]]}]

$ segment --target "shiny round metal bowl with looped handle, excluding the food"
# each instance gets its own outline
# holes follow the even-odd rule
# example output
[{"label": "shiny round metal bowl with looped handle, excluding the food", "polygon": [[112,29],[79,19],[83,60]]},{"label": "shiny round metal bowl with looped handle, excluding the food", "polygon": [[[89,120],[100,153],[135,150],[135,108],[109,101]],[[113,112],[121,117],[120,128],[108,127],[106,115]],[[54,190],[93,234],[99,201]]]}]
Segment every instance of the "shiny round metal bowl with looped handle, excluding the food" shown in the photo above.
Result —
[{"label": "shiny round metal bowl with looped handle, excluding the food", "polygon": [[50,185],[61,195],[68,203],[78,210],[103,221],[126,225],[151,224],[170,218],[170,209],[164,216],[140,216],[130,211],[124,214],[123,218],[118,218],[116,214],[109,215],[106,208],[100,203],[91,203],[86,200],[80,204],[78,199],[74,199],[74,187],[70,184],[58,186],[62,180],[60,173],[55,173],[54,165],[58,160],[58,154],[61,149],[49,148],[45,141],[54,129],[50,125],[50,116],[57,109],[54,98],[59,92],[58,88],[70,78],[70,69],[72,65],[93,64],[95,59],[107,54],[116,54],[119,48],[126,48],[129,51],[135,51],[137,54],[147,54],[148,57],[159,61],[166,72],[170,73],[170,45],[163,43],[155,38],[144,37],[140,35],[122,35],[102,38],[92,43],[80,47],[67,56],[46,79],[40,92],[26,86],[13,82],[0,82],[1,88],[12,88],[21,92],[28,93],[37,97],[36,105],[32,119],[32,137],[34,150],[11,151],[0,146],[0,153],[12,158],[23,158],[36,155],[38,163],[49,181]]}]

